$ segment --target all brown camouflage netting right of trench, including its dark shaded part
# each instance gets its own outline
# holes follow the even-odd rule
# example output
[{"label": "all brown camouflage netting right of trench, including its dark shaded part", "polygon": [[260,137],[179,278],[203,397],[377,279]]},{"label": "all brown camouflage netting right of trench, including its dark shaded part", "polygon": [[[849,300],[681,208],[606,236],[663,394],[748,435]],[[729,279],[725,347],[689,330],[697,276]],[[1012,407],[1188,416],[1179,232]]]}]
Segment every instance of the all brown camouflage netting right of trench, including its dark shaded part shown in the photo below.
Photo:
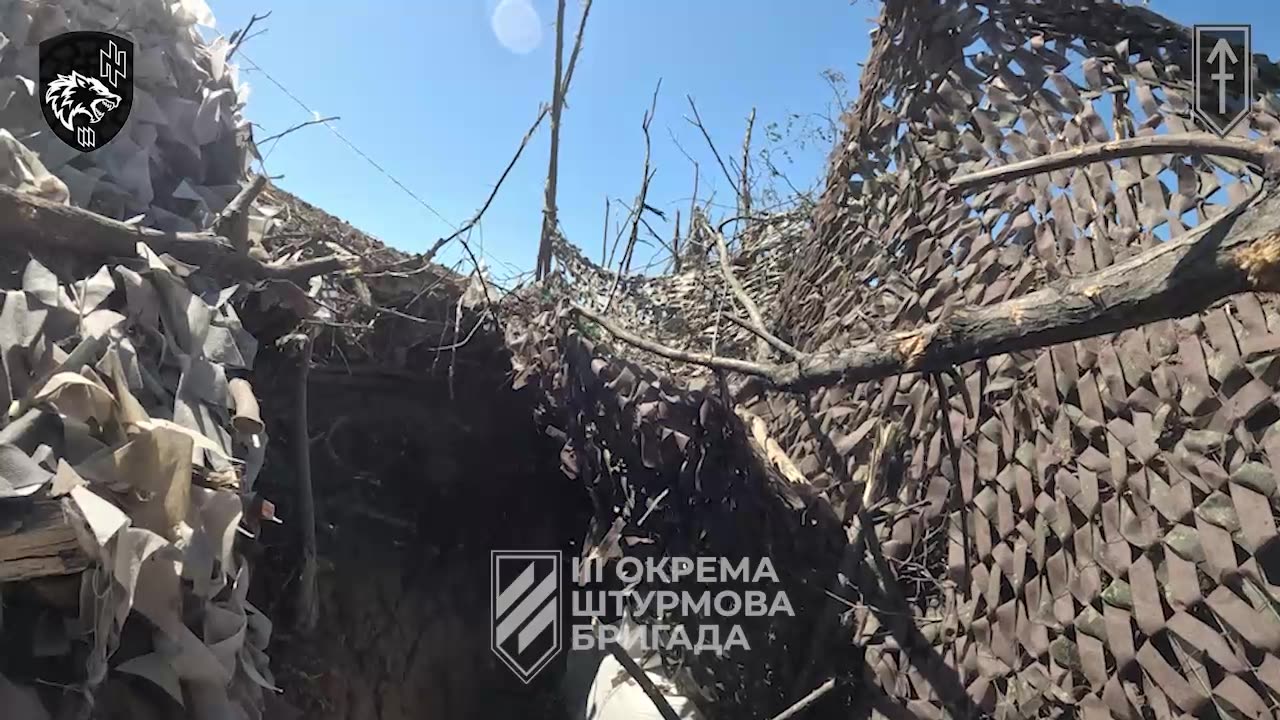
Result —
[{"label": "all brown camouflage netting right of trench, including its dark shaded part", "polygon": [[[1242,163],[1151,156],[968,193],[946,186],[955,173],[1082,145],[1198,131],[1189,61],[1189,29],[1146,8],[887,1],[813,232],[792,250],[777,296],[756,295],[774,329],[801,350],[847,346],[1112,265],[1217,217],[1260,184]],[[1235,132],[1271,143],[1280,82],[1274,65],[1258,64],[1263,99]],[[599,273],[559,255],[575,278]],[[755,288],[769,287],[762,275],[773,272],[737,266]],[[567,292],[600,307],[599,284]],[[672,311],[689,323],[680,331],[645,310],[689,309],[686,284],[625,283],[608,314],[667,345],[707,347],[714,307]],[[741,509],[778,487],[760,454],[705,461],[727,451],[709,454],[703,439],[741,446],[746,433],[721,428],[704,395],[645,379],[625,359],[660,363],[621,342],[590,342],[584,336],[603,337],[590,324],[553,311],[541,320],[545,342],[512,338],[530,348],[517,370],[562,368],[540,382],[568,410],[566,465],[602,515],[660,536],[669,555],[713,555],[737,533],[744,552],[786,557],[780,565],[809,553],[794,571],[831,569],[829,528],[809,515],[756,512],[716,541],[718,507]],[[833,647],[856,639],[864,689],[878,688],[861,698],[888,716],[1272,716],[1277,323],[1271,299],[1243,295],[1198,316],[973,361],[954,375],[750,404],[837,516],[861,496],[886,428],[899,428],[902,466],[888,510],[913,510],[876,534],[914,623],[854,602],[845,630],[832,626],[823,665],[797,671],[803,660],[786,655],[806,652],[795,639],[822,624],[800,610],[813,588],[794,579],[800,618],[772,628],[763,646],[753,635],[745,665],[694,660],[710,674],[698,679],[703,694],[717,710],[768,716],[846,669]],[[719,352],[749,357],[739,337]],[[668,525],[636,529],[646,501],[672,488],[682,495],[658,514]],[[631,500],[614,512],[617,497]],[[833,585],[832,575],[815,582]]]}]

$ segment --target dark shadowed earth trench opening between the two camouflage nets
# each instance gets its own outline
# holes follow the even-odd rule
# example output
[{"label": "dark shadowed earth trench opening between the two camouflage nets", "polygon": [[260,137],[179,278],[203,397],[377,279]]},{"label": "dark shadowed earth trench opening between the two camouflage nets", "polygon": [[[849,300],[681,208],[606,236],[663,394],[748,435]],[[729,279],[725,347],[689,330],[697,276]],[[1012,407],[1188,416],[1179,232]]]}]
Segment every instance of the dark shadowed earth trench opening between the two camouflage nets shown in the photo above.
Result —
[{"label": "dark shadowed earth trench opening between the two camouflage nets", "polygon": [[[577,553],[590,503],[515,391],[500,346],[424,359],[421,374],[315,368],[308,383],[319,625],[293,628],[297,364],[265,348],[255,373],[271,437],[251,600],[276,620],[269,717],[571,717],[566,653],[529,684],[490,651],[490,551]],[[452,370],[449,366],[452,365]],[[269,693],[270,694],[270,693]]]}]

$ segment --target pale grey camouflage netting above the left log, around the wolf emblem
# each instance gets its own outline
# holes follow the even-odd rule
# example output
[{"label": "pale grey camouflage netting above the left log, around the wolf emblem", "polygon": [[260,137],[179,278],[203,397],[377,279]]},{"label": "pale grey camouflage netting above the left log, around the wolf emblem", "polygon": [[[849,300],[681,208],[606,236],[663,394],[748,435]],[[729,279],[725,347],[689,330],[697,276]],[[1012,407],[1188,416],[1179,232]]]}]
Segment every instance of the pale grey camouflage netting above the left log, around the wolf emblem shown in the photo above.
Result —
[{"label": "pale grey camouflage netting above the left log, around the wolf emblem", "polygon": [[[214,24],[205,0],[0,1],[0,128],[12,136],[0,133],[0,141],[12,151],[15,138],[61,183],[41,184],[47,173],[15,179],[110,218],[206,228],[239,191],[256,150],[241,114],[248,85],[227,61],[230,44],[206,44],[197,23]],[[131,119],[95,152],[58,140],[36,99],[40,42],[72,29],[116,32],[136,49]]]}]

